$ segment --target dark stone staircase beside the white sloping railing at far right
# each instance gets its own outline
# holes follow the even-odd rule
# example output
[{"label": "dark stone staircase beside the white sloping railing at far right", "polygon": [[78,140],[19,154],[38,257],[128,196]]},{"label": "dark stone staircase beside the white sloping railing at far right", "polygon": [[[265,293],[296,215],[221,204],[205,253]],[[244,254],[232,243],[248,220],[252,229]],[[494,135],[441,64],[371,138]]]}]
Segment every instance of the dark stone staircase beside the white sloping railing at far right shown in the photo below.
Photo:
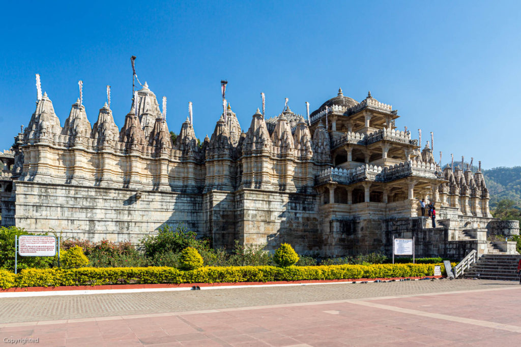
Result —
[{"label": "dark stone staircase beside the white sloping railing at far right", "polygon": [[519,254],[497,253],[482,255],[481,258],[465,271],[465,278],[498,279],[504,281],[518,281],[517,264],[521,259]]}]

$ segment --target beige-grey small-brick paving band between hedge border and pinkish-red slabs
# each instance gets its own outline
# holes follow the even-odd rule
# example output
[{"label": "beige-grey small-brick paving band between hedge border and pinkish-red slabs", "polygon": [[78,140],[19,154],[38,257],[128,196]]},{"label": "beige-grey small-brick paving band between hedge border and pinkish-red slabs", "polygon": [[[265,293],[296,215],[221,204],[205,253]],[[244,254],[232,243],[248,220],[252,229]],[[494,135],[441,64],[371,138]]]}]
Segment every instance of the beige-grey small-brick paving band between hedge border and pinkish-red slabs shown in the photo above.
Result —
[{"label": "beige-grey small-brick paving band between hedge border and pinkish-red slabs", "polygon": [[[3,298],[0,324],[154,314],[245,306],[345,300],[392,295],[490,289],[516,285],[511,281],[435,280],[368,284],[328,284],[288,287],[252,287],[198,291],[60,295]],[[70,307],[74,307],[73,310]]]}]

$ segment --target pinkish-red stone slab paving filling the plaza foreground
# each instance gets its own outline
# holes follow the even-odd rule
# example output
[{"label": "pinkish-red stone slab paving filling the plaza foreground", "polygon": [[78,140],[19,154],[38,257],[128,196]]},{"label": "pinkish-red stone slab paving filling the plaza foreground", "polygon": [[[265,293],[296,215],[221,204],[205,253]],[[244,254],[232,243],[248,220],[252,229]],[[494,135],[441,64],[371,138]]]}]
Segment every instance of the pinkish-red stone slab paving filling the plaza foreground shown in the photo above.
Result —
[{"label": "pinkish-red stone slab paving filling the plaza foreground", "polygon": [[[464,282],[471,285],[469,289],[475,289],[472,286],[476,281]],[[401,288],[407,292],[409,287],[407,287],[407,282],[405,283],[406,285]],[[454,284],[451,282],[445,281],[445,283],[449,290],[454,288]],[[375,284],[375,287],[377,285],[380,286],[379,288],[383,288],[379,284]],[[370,287],[365,286],[369,291],[372,290]],[[487,285],[487,288],[489,287]],[[503,285],[503,287],[505,286]],[[344,290],[349,289],[349,287],[343,288]],[[425,288],[428,289],[428,286]],[[343,297],[344,293],[341,292],[339,295]],[[376,295],[371,295],[371,297],[376,297]],[[308,297],[308,299],[313,298]],[[314,299],[316,301],[324,298],[322,295],[317,295]],[[334,300],[338,300],[338,298]],[[519,315],[511,316],[515,309],[521,307],[521,286],[519,286],[512,290],[502,291],[449,292],[416,297],[373,298],[365,301],[318,304],[310,302],[299,306],[292,306],[290,302],[288,306],[251,307],[226,312],[181,313],[160,317],[144,315],[134,318],[120,317],[114,320],[90,320],[61,324],[48,322],[53,324],[0,327],[0,337],[39,337],[39,346],[110,347],[143,345],[512,346],[521,344],[521,333],[508,330],[511,329],[508,326],[498,328],[494,325],[495,320],[493,319],[501,318],[499,314],[492,313],[489,316],[477,318],[482,315],[483,303],[487,303],[489,300],[493,304],[488,305],[495,306],[494,312],[508,313],[511,321],[504,324],[511,327],[521,324]],[[374,305],[366,306],[365,303],[416,311],[412,311],[412,313],[397,312]],[[0,305],[2,304],[0,302]],[[127,307],[131,307],[133,304],[129,302],[127,305]],[[136,305],[143,305],[143,303]],[[479,319],[480,322],[485,321],[483,324],[487,326],[429,316],[437,313],[445,315],[442,317],[466,318],[468,316],[468,318]],[[464,315],[461,316],[458,313]],[[487,319],[488,317],[491,319]],[[27,319],[33,320],[34,318],[27,317]]]}]

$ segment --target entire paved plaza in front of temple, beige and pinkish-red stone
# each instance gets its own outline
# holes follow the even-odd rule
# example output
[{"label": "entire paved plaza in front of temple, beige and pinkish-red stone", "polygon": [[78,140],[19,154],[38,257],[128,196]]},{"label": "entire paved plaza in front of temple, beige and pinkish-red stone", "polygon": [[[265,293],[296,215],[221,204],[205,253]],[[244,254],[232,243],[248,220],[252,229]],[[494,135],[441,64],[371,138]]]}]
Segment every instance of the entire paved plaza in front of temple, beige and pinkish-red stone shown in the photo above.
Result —
[{"label": "entire paved plaza in front of temple, beige and pinkish-red stone", "polygon": [[516,282],[463,279],[2,298],[0,341],[512,346],[520,308]]}]

